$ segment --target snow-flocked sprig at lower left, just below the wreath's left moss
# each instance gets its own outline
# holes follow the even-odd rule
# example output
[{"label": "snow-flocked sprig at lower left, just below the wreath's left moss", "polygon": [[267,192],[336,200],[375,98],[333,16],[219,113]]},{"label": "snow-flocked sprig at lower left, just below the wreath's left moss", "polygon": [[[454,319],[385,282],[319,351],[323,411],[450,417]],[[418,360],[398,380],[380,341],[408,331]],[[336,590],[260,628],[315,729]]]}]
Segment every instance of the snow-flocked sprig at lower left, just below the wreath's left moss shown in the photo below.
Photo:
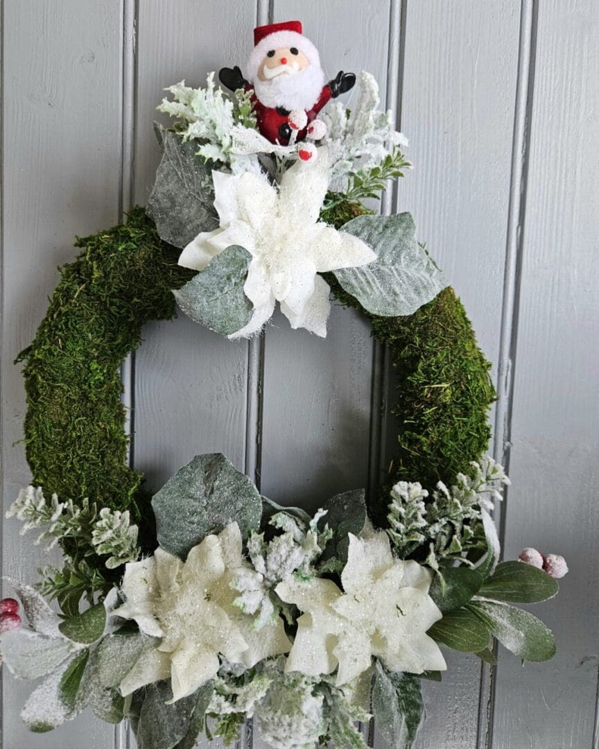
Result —
[{"label": "snow-flocked sprig at lower left, just below the wreath's left moss", "polygon": [[139,557],[138,528],[130,523],[128,510],[119,512],[103,507],[98,511],[95,503],[88,500],[76,506],[73,500],[59,502],[56,494],[47,500],[42,487],[30,485],[19,491],[6,517],[22,521],[21,534],[32,528],[41,530],[34,543],[45,544],[46,550],[68,539],[85,550],[84,556],[94,551],[108,556],[105,562],[108,569]]}]

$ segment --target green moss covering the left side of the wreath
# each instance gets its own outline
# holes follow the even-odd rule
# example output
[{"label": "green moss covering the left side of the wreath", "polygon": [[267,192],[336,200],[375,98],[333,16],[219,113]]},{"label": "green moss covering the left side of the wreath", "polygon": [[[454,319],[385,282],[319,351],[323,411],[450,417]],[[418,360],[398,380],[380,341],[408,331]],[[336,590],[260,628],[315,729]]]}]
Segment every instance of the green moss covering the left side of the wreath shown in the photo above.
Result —
[{"label": "green moss covering the left side of the wreath", "polygon": [[174,315],[172,288],[193,272],[142,208],[127,225],[76,241],[25,361],[25,449],[34,483],[60,500],[133,509],[142,477],[126,465],[121,363],[150,320]]}]

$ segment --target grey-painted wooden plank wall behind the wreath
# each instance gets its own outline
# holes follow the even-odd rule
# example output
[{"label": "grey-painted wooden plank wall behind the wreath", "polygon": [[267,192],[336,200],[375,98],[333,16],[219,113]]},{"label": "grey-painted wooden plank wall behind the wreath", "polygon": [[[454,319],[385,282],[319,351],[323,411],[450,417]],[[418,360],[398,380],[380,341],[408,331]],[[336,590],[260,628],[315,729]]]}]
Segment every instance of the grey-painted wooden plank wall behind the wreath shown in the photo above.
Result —
[{"label": "grey-painted wooden plank wall behind the wreath", "polygon": [[[410,137],[415,169],[381,210],[413,212],[495,364],[495,452],[513,480],[499,512],[506,556],[535,545],[571,566],[562,594],[542,610],[556,659],[522,668],[499,649],[489,670],[450,655],[443,684],[425,686],[419,749],[597,747],[593,0],[4,0],[4,508],[28,482],[24,393],[12,360],[43,316],[55,267],[73,257],[73,235],[145,203],[165,85],[201,85],[222,64],[243,65],[256,22],[292,17],[330,74],[377,76]],[[149,484],[210,451],[225,452],[282,503],[314,508],[376,482],[392,434],[385,352],[347,310],[335,307],[329,328],[322,341],[277,317],[261,339],[232,344],[185,317],[148,326],[124,380],[132,460]],[[4,574],[31,578],[43,560],[13,522],[3,524],[2,548]],[[5,749],[133,746],[125,727],[87,715],[53,734],[28,734],[19,721],[28,689],[3,681]],[[243,745],[264,746],[251,730]]]}]

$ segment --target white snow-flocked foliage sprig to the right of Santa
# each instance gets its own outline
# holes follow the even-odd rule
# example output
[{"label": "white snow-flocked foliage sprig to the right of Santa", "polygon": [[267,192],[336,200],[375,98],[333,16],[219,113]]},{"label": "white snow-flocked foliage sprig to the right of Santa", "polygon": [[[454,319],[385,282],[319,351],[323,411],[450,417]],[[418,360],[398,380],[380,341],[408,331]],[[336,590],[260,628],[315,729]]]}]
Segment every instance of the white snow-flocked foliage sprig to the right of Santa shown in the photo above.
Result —
[{"label": "white snow-flocked foliage sprig to the right of Santa", "polygon": [[401,169],[410,166],[400,150],[407,146],[407,139],[395,130],[391,112],[378,109],[379,88],[374,76],[362,70],[359,87],[351,112],[338,102],[321,115],[331,166],[329,189],[351,200],[373,197],[387,179],[402,176]]}]

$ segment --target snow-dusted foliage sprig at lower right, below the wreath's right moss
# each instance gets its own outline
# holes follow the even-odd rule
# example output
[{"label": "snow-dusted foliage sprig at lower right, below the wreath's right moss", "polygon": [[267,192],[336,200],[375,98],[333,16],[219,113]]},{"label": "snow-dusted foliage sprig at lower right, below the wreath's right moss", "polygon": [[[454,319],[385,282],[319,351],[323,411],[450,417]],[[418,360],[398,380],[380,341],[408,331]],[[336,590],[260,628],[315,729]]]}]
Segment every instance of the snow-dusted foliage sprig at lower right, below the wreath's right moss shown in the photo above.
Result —
[{"label": "snow-dusted foliage sprig at lower right, below the wreath's right moss", "polygon": [[387,534],[400,557],[428,546],[426,563],[434,569],[442,560],[463,560],[478,545],[476,527],[482,511],[493,509],[509,484],[503,467],[489,455],[472,461],[468,475],[458,473],[455,484],[437,483],[431,500],[419,483],[398,482],[391,491]]}]

